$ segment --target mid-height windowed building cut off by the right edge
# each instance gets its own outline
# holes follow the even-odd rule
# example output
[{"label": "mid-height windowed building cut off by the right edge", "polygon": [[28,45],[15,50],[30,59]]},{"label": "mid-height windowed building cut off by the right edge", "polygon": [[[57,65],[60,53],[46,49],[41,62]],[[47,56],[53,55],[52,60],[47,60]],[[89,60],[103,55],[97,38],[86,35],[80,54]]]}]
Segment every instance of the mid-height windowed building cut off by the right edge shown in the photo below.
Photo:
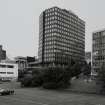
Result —
[{"label": "mid-height windowed building cut off by the right edge", "polygon": [[94,73],[105,64],[105,29],[93,32],[92,68]]}]

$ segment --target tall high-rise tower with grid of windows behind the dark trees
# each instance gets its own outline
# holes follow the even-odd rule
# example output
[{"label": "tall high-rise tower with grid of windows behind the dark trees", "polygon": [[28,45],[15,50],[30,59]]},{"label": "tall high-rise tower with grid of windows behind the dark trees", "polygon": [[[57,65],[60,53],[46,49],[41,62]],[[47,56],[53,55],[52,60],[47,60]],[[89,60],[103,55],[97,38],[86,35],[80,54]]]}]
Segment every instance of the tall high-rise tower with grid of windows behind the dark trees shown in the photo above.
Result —
[{"label": "tall high-rise tower with grid of windows behind the dark trees", "polygon": [[85,60],[85,22],[73,12],[52,7],[39,18],[39,62],[68,65]]}]

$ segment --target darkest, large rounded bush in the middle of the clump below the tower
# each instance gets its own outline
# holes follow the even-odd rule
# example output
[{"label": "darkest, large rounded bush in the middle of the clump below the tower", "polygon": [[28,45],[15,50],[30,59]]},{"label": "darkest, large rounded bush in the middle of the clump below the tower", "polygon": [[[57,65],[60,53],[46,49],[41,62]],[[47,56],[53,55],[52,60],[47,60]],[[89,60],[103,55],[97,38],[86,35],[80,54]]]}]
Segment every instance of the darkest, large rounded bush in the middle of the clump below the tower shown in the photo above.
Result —
[{"label": "darkest, large rounded bush in the middle of the clump below the tower", "polygon": [[71,76],[61,67],[48,68],[43,75],[43,88],[57,89],[70,85]]}]

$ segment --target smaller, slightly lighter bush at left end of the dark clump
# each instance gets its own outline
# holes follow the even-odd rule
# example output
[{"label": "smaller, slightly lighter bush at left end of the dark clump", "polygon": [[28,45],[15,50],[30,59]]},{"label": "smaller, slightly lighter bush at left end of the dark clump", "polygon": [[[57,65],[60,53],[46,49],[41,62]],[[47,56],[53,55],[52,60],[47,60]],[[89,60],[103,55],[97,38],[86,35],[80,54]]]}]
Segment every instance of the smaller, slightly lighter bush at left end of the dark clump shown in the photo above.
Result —
[{"label": "smaller, slightly lighter bush at left end of the dark clump", "polygon": [[27,70],[24,78],[21,80],[21,85],[25,87],[41,86],[43,83],[43,72],[40,69]]}]

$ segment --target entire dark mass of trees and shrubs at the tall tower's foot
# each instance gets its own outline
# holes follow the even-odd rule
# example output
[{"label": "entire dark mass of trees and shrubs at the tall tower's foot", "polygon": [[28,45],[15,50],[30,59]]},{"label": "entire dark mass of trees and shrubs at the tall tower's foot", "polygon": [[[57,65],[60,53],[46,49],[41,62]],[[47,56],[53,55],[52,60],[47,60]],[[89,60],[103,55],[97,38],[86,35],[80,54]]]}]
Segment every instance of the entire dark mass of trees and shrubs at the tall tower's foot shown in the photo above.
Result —
[{"label": "entire dark mass of trees and shrubs at the tall tower's foot", "polygon": [[72,66],[66,68],[49,67],[46,69],[32,69],[25,73],[21,84],[26,87],[42,86],[47,89],[67,88],[70,86],[71,78],[78,76],[80,73],[81,66],[78,63],[73,63]]}]

